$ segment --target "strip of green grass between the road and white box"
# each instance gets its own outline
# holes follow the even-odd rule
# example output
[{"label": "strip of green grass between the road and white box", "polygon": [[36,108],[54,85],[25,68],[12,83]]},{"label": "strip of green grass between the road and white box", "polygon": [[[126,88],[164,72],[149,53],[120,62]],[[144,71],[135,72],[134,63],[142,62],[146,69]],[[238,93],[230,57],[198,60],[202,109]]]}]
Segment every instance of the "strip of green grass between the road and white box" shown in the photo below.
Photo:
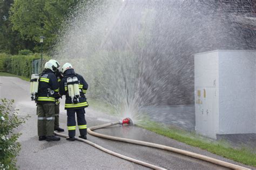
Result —
[{"label": "strip of green grass between the road and white box", "polygon": [[175,139],[187,145],[204,149],[208,152],[220,155],[245,165],[256,167],[256,154],[249,148],[232,148],[226,141],[215,141],[207,139],[201,135],[186,132],[175,127],[164,124],[147,121],[146,124],[139,125],[146,130],[164,135],[165,137]]}]

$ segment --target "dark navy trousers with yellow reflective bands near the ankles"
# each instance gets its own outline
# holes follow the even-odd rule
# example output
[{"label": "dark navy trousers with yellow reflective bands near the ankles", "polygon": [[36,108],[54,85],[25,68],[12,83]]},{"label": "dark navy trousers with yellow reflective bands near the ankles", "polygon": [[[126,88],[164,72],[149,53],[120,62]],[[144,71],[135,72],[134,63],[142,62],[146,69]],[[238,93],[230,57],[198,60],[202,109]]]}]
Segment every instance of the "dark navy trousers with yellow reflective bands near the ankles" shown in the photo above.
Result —
[{"label": "dark navy trousers with yellow reflective bands near the ankles", "polygon": [[77,113],[77,124],[79,128],[80,135],[87,135],[87,125],[85,120],[85,110],[84,108],[67,110],[68,115],[68,131],[69,137],[75,137],[76,135],[76,119],[75,113]]}]

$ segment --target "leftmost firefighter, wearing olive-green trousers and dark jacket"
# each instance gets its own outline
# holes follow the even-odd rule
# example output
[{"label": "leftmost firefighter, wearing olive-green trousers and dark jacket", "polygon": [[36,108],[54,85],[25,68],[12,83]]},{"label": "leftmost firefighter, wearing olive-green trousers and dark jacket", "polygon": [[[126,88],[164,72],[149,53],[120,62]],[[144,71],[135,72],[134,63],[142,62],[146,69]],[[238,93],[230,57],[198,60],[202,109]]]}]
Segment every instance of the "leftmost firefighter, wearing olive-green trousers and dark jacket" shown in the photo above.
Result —
[{"label": "leftmost firefighter, wearing olive-green trousers and dark jacket", "polygon": [[55,76],[57,64],[46,62],[44,71],[39,75],[37,103],[37,128],[39,140],[57,141],[54,135],[55,99],[59,98],[59,84]]}]

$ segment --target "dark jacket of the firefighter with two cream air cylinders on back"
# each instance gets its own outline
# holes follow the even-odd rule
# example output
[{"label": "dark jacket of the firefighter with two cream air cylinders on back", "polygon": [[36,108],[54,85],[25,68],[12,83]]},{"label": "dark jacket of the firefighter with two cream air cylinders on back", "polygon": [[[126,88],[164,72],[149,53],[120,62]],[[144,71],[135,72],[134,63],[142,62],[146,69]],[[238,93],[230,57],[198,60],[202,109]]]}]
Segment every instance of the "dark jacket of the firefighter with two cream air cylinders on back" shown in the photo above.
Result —
[{"label": "dark jacket of the firefighter with two cream air cylinders on back", "polygon": [[[71,77],[77,77],[78,79],[78,86],[79,86],[79,91],[80,91],[80,97],[79,97],[79,103],[72,103],[72,99],[69,97],[69,92],[68,92],[68,84],[67,84],[67,79]],[[73,69],[66,70],[64,72],[64,78],[61,80],[60,83],[60,95],[66,95],[66,100],[65,100],[65,110],[77,110],[80,108],[85,108],[88,107],[85,93],[86,90],[88,89],[88,84],[84,80],[82,76],[79,74],[76,74]]]}]

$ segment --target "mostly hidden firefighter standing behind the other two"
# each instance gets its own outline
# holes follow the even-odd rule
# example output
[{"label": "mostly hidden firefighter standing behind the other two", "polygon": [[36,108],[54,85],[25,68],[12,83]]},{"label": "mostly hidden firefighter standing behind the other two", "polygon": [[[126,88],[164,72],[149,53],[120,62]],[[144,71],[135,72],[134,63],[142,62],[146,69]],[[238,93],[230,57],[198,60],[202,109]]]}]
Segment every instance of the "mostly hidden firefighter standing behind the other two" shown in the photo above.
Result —
[{"label": "mostly hidden firefighter standing behind the other two", "polygon": [[[57,62],[56,60],[54,59],[50,59],[49,62],[51,63],[56,63],[57,64],[57,70],[55,72],[55,76],[57,77],[57,80],[58,80],[58,83],[60,85],[60,80],[63,78],[63,75],[62,73],[59,71],[60,69],[60,64],[59,62]],[[54,130],[55,131],[58,131],[58,132],[64,132],[64,129],[63,128],[60,128],[59,127],[59,104],[60,104],[60,101],[59,99],[55,99],[55,122],[54,122]]]}]

